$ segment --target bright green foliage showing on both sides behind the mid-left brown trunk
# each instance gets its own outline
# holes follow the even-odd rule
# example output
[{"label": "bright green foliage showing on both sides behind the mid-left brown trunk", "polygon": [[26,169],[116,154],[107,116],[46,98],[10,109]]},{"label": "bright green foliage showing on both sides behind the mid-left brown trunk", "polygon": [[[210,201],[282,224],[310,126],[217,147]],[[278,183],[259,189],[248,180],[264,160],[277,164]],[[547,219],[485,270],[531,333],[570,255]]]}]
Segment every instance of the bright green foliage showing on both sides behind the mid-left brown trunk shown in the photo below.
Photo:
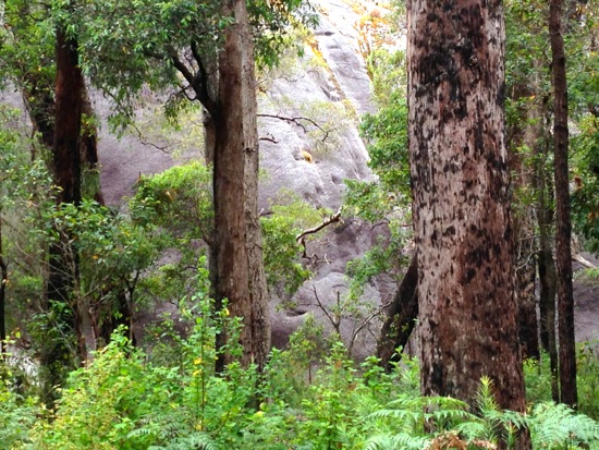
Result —
[{"label": "bright green foliage showing on both sides behind the mid-left brown trunk", "polygon": [[[199,161],[176,166],[162,173],[144,177],[137,182],[137,192],[130,202],[133,221],[145,228],[159,227],[164,247],[176,250],[179,259],[163,265],[156,273],[156,289],[164,290],[169,279],[185,284],[188,268],[194,267],[201,246],[210,245],[213,229],[211,170]],[[262,217],[264,262],[267,281],[281,297],[289,297],[309,278],[310,270],[301,262],[302,246],[295,236],[305,228],[314,227],[322,216],[295,195],[282,192],[272,205],[269,216]],[[196,244],[196,245],[194,245]],[[145,280],[151,283],[150,280]],[[175,288],[173,285],[173,288]],[[170,290],[179,296],[185,290]]]}]

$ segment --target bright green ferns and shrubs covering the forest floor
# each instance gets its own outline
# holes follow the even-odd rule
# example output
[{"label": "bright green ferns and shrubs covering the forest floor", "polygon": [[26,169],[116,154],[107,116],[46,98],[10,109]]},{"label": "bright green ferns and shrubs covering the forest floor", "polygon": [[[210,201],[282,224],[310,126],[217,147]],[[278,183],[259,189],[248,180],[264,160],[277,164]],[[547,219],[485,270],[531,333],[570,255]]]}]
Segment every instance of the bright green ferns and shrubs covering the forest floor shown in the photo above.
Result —
[{"label": "bright green ferns and shrubs covering the forest floor", "polygon": [[580,410],[595,418],[547,401],[546,368],[533,363],[528,412],[517,414],[498,408],[487,378],[474,405],[421,397],[416,360],[404,356],[386,374],[375,357],[350,361],[339,340],[322,339],[317,349],[314,330],[273,350],[261,376],[236,364],[215,374],[215,337],[222,328],[234,333],[237,324],[203,296],[186,303],[184,318],[192,324],[186,337],[167,320],[148,351],[120,330],[70,375],[56,411],[5,373],[0,449],[493,449],[515,448],[524,428],[535,449],[599,449],[591,354],[578,360],[588,403]]}]

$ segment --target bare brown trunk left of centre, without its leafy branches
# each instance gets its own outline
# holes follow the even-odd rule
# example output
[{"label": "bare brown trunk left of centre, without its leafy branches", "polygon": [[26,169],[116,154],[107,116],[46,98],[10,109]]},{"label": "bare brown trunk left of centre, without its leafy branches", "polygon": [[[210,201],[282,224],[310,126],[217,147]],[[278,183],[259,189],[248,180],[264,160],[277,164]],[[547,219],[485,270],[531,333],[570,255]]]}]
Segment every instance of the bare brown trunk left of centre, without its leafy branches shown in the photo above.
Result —
[{"label": "bare brown trunk left of centre, without its leafy branches", "polygon": [[[254,49],[243,0],[223,1],[223,15],[235,22],[227,29],[219,57],[218,110],[213,155],[217,301],[243,317],[241,363],[261,370],[270,350],[270,316],[258,221],[258,132]],[[224,333],[222,337],[227,339]],[[230,361],[225,355],[222,363]]]}]

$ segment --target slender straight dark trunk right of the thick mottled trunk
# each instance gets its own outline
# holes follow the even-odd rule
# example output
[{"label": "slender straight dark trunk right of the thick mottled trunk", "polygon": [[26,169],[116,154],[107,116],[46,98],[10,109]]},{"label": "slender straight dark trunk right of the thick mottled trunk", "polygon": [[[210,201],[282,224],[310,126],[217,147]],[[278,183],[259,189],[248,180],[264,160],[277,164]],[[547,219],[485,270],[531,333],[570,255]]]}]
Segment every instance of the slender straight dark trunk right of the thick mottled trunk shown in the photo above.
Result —
[{"label": "slender straight dark trunk right of the thick mottled trunk", "polygon": [[570,179],[567,170],[567,81],[562,16],[564,0],[549,4],[549,33],[553,74],[553,168],[555,175],[558,266],[558,330],[560,337],[560,401],[577,403],[576,348],[574,340],[574,297],[572,292],[572,223],[570,218]]}]

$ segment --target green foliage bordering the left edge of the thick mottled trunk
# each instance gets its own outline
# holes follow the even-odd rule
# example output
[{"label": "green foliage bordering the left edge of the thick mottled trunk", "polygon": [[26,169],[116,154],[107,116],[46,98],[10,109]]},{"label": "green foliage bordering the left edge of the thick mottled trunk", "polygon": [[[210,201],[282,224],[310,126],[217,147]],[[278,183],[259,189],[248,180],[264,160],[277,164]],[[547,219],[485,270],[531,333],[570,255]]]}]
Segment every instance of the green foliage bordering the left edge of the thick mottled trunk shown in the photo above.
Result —
[{"label": "green foliage bordering the left edge of the thick mottled trunk", "polygon": [[389,235],[379,236],[362,258],[347,264],[349,297],[353,301],[380,273],[391,273],[401,281],[406,263],[401,255],[406,254],[412,230],[405,54],[379,49],[370,54],[368,68],[379,110],[363,118],[360,132],[370,156],[368,166],[378,180],[346,180],[344,210],[372,224],[384,226]]}]

